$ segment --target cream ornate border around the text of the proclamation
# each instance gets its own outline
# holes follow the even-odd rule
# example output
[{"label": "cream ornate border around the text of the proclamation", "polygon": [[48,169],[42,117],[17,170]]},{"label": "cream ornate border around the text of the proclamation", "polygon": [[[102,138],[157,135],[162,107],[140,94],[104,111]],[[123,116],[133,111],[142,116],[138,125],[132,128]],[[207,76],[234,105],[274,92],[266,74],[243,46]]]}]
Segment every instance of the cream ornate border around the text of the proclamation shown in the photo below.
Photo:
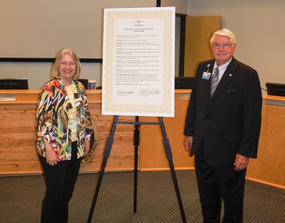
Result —
[{"label": "cream ornate border around the text of the proclamation", "polygon": [[[164,72],[164,97],[161,106],[132,105],[132,104],[115,104],[112,103],[112,81],[114,75],[112,73],[113,61],[113,27],[116,18],[163,18],[164,19],[164,55],[163,55],[163,72]],[[106,26],[106,67],[105,67],[105,112],[140,112],[140,113],[160,113],[171,114],[171,64],[172,64],[172,11],[171,10],[147,10],[147,11],[114,11],[107,12]]]}]

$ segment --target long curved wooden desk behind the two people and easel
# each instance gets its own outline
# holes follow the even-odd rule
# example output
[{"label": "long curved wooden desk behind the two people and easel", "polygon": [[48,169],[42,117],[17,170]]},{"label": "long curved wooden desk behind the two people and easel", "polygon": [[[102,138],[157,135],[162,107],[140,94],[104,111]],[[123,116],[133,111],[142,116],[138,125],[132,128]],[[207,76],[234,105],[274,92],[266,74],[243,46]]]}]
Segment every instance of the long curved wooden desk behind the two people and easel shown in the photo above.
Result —
[{"label": "long curved wooden desk behind the two people and easel", "polygon": [[[101,168],[103,150],[113,124],[112,115],[101,115],[101,90],[88,90],[91,117],[96,123],[99,143],[94,155],[80,172],[97,172]],[[0,175],[38,174],[40,168],[35,147],[37,100],[40,90],[0,90],[0,94],[15,94],[16,101],[0,101]],[[164,125],[173,154],[175,169],[193,169],[194,159],[186,152],[183,128],[189,100],[188,90],[175,90],[175,117],[164,117]],[[247,178],[285,189],[285,106],[265,104],[265,100],[285,101],[284,97],[263,95],[262,127],[258,158],[251,159]],[[121,121],[134,121],[132,116],[119,116]],[[157,117],[140,117],[143,122],[158,122]],[[118,124],[106,171],[134,168],[134,125]],[[164,153],[159,125],[140,127],[140,170],[169,169]]]}]

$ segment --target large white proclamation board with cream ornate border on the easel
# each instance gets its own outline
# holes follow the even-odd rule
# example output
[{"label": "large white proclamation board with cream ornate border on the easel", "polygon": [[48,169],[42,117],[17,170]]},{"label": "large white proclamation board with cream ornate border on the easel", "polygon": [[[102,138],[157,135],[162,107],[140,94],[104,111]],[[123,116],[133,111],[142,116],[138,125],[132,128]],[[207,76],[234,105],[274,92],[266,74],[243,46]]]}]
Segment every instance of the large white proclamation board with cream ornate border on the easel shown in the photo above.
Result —
[{"label": "large white proclamation board with cream ornate border on the easel", "polygon": [[102,114],[174,117],[175,7],[104,10]]}]

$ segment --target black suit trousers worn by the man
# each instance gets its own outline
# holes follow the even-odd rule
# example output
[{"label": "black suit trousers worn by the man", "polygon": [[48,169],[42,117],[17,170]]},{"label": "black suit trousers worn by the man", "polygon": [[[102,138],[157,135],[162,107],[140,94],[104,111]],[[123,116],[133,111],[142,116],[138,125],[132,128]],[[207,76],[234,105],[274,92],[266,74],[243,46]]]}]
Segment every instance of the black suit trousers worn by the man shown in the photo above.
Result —
[{"label": "black suit trousers worn by the man", "polygon": [[221,201],[224,201],[222,223],[243,222],[243,194],[246,169],[213,167],[205,160],[204,141],[195,153],[195,172],[202,206],[203,223],[220,223]]}]

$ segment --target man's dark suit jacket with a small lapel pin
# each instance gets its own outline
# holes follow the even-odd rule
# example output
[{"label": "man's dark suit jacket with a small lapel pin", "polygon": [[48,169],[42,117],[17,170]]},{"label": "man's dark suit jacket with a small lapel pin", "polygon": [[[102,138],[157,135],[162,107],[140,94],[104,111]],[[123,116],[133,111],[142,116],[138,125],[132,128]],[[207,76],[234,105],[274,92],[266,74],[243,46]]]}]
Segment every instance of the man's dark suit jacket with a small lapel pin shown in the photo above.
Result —
[{"label": "man's dark suit jacket with a small lapel pin", "polygon": [[213,96],[209,80],[215,60],[198,65],[184,135],[193,136],[190,156],[204,140],[205,158],[212,166],[232,166],[235,155],[257,158],[262,94],[257,71],[232,58]]}]

